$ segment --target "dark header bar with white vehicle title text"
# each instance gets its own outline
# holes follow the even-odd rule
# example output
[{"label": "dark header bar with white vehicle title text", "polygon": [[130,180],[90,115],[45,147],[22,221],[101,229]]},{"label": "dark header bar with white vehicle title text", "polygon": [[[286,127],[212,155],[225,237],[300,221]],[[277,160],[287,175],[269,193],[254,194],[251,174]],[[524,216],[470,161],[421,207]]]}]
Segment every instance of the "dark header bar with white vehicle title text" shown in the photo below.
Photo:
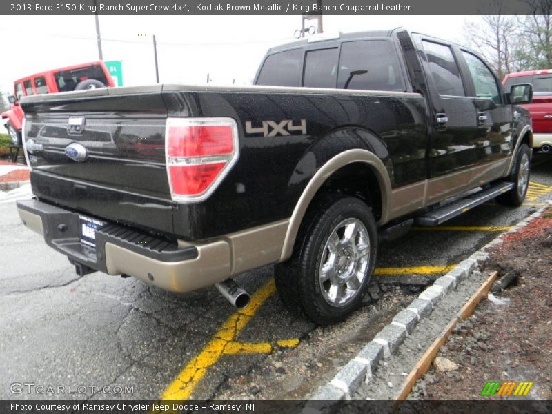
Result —
[{"label": "dark header bar with white vehicle title text", "polygon": [[542,14],[539,0],[4,0],[0,14],[270,15],[270,14]]}]

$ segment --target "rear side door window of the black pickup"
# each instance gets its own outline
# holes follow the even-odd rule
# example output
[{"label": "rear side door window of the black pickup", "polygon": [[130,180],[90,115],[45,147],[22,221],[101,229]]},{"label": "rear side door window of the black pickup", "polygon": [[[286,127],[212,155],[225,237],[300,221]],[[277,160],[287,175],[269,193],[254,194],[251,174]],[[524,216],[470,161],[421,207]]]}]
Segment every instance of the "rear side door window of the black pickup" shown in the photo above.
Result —
[{"label": "rear side door window of the black pickup", "polygon": [[439,95],[466,96],[460,70],[450,46],[427,40],[422,43]]}]

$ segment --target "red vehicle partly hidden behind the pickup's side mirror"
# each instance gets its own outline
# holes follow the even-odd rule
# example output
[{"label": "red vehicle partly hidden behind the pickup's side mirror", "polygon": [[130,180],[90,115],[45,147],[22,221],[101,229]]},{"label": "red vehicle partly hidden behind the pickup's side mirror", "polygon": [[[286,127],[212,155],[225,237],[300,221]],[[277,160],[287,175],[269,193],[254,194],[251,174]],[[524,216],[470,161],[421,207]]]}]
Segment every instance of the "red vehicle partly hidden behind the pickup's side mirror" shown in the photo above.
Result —
[{"label": "red vehicle partly hidden behind the pickup's side mirror", "polygon": [[531,113],[533,123],[531,146],[549,152],[552,149],[552,69],[510,73],[502,81],[505,90],[510,90],[516,83],[533,85],[533,102],[524,105]]}]

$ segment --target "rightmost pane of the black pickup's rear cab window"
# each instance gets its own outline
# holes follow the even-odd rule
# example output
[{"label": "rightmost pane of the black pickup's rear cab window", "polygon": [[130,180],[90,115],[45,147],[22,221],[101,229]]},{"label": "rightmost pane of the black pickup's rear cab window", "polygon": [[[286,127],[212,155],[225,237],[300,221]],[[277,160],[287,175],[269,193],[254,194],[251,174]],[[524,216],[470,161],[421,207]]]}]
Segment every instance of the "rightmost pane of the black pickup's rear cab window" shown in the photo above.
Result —
[{"label": "rightmost pane of the black pickup's rear cab window", "polygon": [[337,88],[404,92],[404,77],[393,44],[384,40],[342,43]]}]

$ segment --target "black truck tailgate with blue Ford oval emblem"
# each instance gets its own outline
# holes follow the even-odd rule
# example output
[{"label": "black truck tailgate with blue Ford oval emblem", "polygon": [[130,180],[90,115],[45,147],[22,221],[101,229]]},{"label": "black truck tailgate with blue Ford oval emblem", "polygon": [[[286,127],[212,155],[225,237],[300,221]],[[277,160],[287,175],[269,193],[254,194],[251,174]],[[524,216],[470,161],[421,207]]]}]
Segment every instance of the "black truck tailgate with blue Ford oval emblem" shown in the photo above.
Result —
[{"label": "black truck tailgate with blue Ford oval emblem", "polygon": [[[167,110],[160,90],[66,95],[23,102],[34,195],[103,219],[172,233]],[[68,150],[70,144],[85,154]]]}]

